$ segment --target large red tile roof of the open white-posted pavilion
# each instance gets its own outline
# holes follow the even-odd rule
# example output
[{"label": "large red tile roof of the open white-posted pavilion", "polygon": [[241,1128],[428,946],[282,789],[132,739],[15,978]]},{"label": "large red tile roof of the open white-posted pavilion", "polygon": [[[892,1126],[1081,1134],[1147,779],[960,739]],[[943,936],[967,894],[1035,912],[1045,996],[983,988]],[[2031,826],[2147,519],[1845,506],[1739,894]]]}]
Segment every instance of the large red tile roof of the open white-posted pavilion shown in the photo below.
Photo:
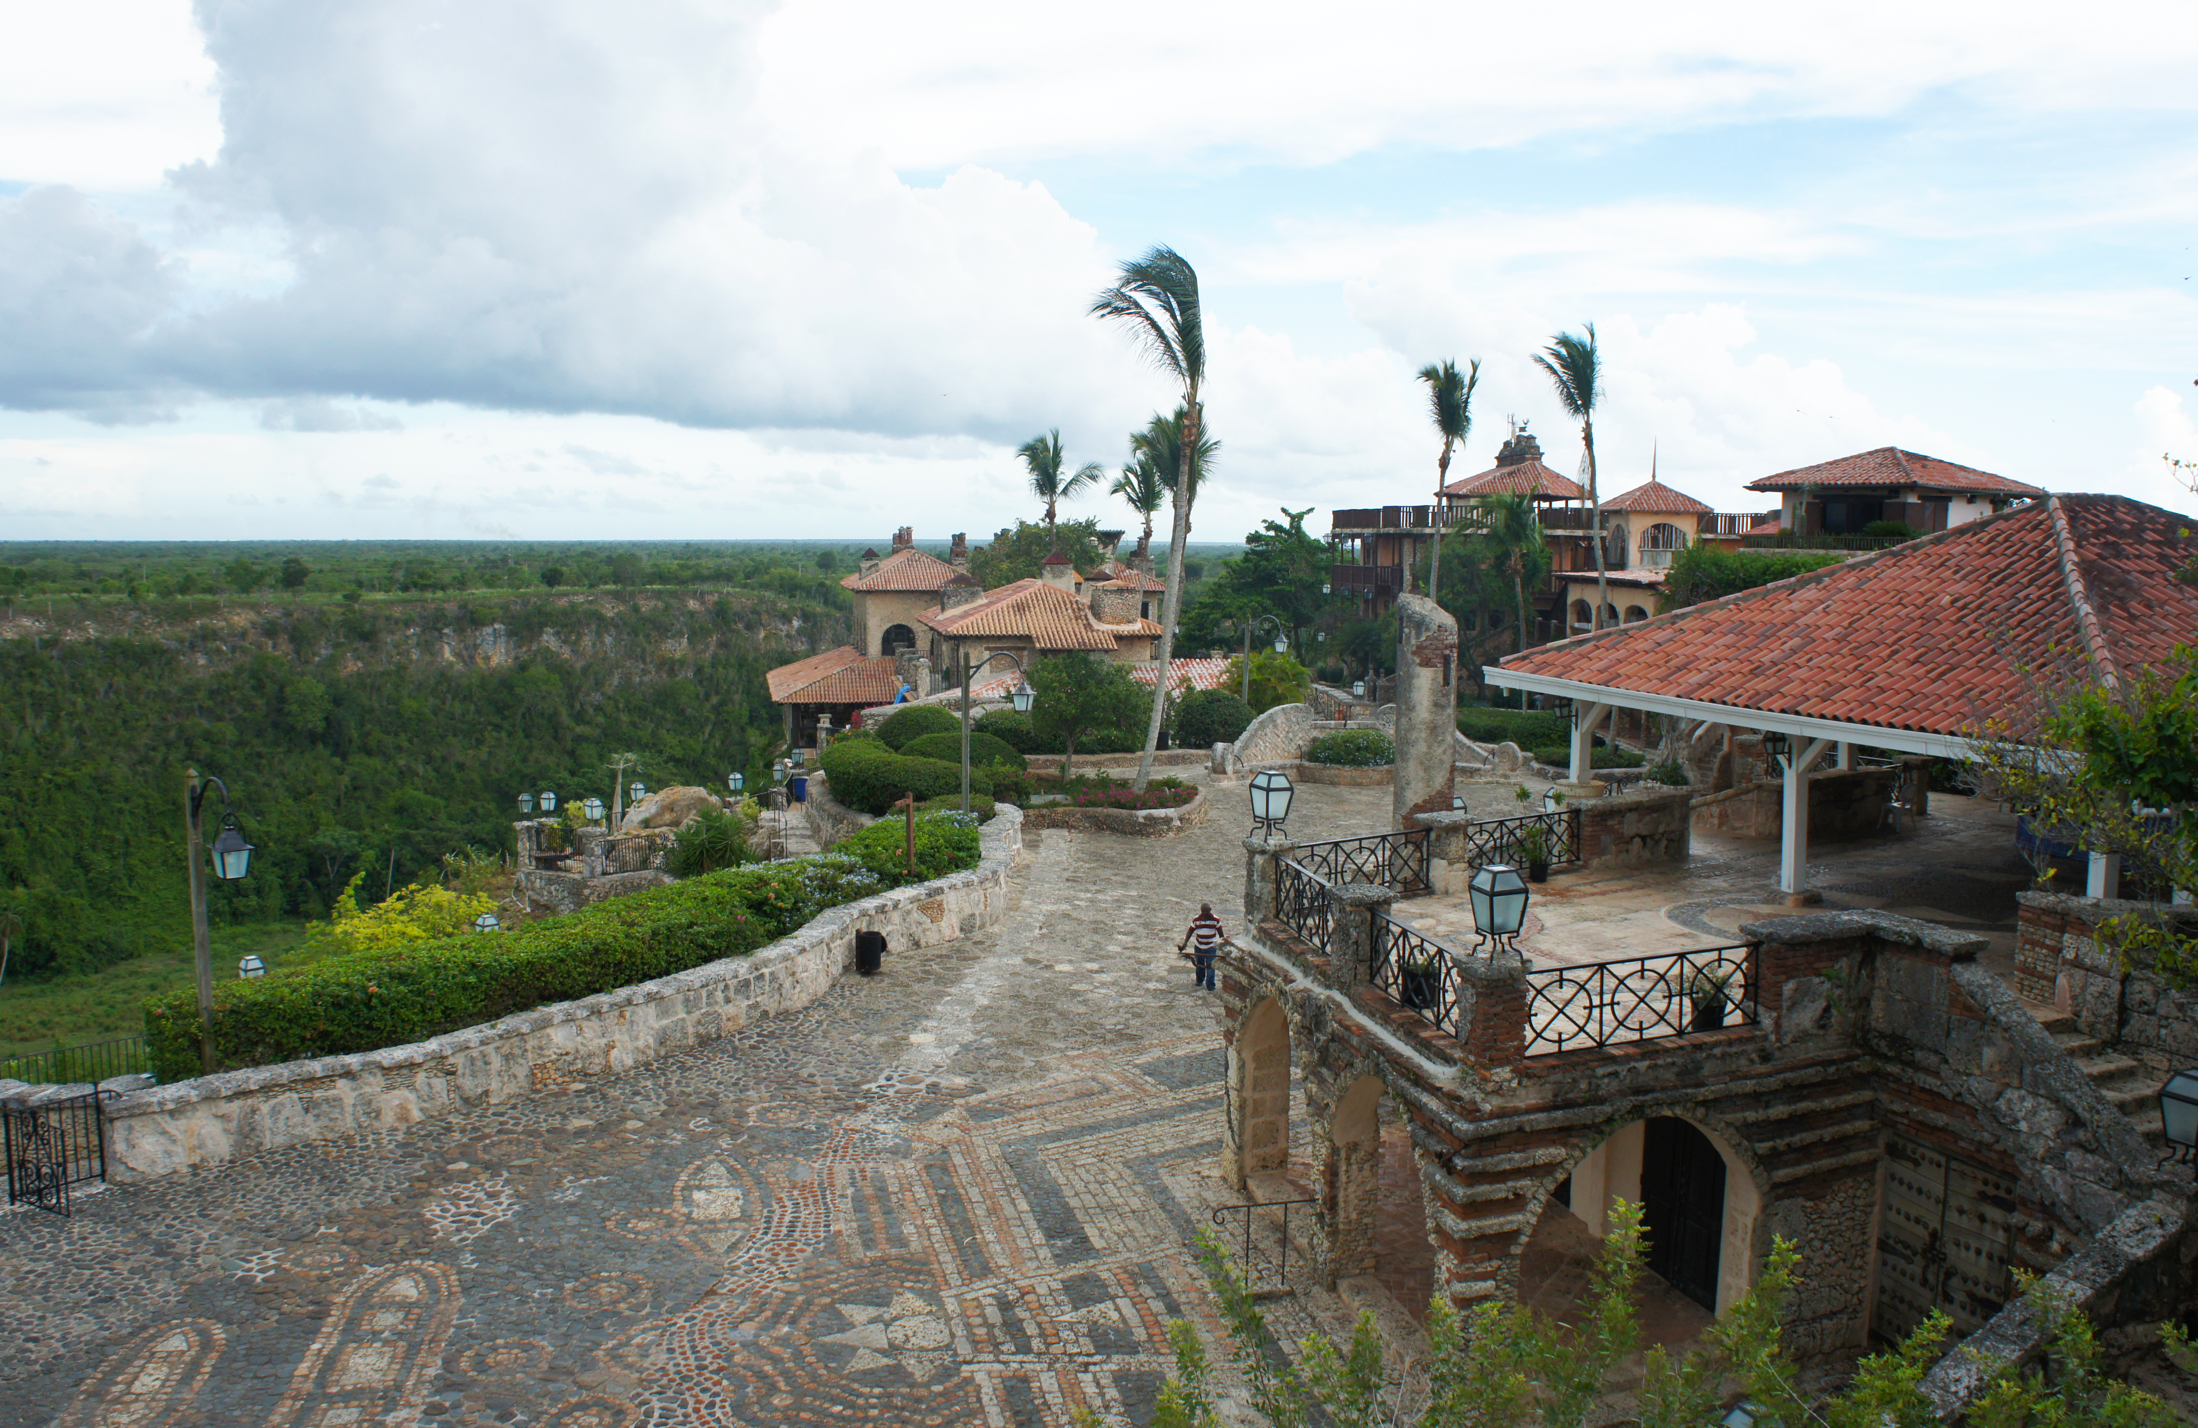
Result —
[{"label": "large red tile roof of the open white-posted pavilion", "polygon": [[[1642,624],[1503,659],[1506,672],[1961,736],[2022,710],[2020,672],[2130,679],[2198,628],[2187,516],[2046,497]],[[1501,683],[1501,681],[1497,681]]]}]

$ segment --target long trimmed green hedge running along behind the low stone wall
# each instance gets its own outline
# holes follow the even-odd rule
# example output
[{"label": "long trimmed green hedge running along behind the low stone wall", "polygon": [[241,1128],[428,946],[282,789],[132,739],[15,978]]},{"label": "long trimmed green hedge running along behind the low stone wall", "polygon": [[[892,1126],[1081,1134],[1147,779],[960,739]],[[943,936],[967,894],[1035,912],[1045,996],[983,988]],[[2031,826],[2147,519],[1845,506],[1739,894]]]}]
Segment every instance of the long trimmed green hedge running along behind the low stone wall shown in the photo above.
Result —
[{"label": "long trimmed green hedge running along behind the low stone wall", "polygon": [[[976,841],[974,828],[919,824],[919,861],[939,872],[974,868]],[[424,1041],[750,953],[826,907],[910,881],[901,868],[868,846],[725,868],[512,931],[356,951],[290,973],[215,982],[213,1044],[222,1070],[235,1070]],[[163,1081],[196,1076],[198,993],[147,997],[145,1041]]]}]

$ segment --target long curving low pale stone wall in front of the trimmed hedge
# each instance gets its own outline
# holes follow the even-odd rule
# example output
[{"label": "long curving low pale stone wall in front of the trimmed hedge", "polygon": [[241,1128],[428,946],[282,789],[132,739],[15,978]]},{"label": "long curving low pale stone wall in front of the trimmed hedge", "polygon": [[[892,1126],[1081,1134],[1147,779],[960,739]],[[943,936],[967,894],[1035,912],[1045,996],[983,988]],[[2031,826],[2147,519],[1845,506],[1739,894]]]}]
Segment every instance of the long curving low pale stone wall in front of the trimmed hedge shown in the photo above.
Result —
[{"label": "long curving low pale stone wall in front of the trimmed hedge", "polygon": [[[108,1107],[108,1180],[215,1167],[257,1151],[433,1120],[521,1101],[574,1076],[644,1066],[822,997],[855,958],[857,931],[892,949],[952,942],[1007,910],[1022,813],[983,828],[983,861],[928,883],[822,912],[745,958],[708,962],[470,1026],[431,1041],[319,1061],[257,1066],[125,1094]],[[886,962],[888,973],[892,962]]]}]

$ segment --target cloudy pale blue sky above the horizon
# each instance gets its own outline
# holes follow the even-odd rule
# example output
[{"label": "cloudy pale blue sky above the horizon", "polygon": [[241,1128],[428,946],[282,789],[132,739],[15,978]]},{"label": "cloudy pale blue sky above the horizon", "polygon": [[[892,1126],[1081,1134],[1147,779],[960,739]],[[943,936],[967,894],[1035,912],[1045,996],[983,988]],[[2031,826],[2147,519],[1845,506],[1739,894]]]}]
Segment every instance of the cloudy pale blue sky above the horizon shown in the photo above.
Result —
[{"label": "cloudy pale blue sky above the horizon", "polygon": [[[1198,538],[1427,499],[1594,321],[1605,492],[1899,444],[2178,510],[2187,4],[70,0],[0,51],[0,536],[943,538],[1172,393]],[[1092,501],[1077,514],[1121,507]]]}]

